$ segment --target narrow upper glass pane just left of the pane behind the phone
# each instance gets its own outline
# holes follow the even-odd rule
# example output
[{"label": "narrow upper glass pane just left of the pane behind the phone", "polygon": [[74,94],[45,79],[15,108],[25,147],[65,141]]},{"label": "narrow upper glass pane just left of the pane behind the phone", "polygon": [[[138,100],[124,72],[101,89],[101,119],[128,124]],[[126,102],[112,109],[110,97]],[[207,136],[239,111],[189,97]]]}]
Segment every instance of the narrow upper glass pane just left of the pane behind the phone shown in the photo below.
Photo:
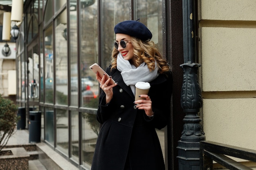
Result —
[{"label": "narrow upper glass pane just left of the pane behind the phone", "polygon": [[[71,96],[70,105],[78,106],[78,60],[77,60],[77,15],[76,0],[70,1],[70,75],[71,75]],[[67,29],[63,31],[67,37]]]}]

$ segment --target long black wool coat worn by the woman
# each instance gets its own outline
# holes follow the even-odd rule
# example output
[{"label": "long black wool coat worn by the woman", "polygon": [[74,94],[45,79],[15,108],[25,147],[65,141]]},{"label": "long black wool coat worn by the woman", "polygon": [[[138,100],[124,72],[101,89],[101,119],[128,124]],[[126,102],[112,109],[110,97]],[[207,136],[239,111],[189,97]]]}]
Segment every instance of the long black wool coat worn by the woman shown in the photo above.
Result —
[{"label": "long black wool coat worn by the woman", "polygon": [[[135,96],[124,83],[121,72],[110,67],[106,73],[118,85],[106,104],[106,94],[99,97],[97,120],[102,124],[92,161],[92,170],[165,170],[161,146],[155,128],[162,129],[170,119],[173,78],[171,72],[159,74],[150,83],[148,95],[154,116],[135,108]],[[138,80],[139,82],[139,80]]]}]

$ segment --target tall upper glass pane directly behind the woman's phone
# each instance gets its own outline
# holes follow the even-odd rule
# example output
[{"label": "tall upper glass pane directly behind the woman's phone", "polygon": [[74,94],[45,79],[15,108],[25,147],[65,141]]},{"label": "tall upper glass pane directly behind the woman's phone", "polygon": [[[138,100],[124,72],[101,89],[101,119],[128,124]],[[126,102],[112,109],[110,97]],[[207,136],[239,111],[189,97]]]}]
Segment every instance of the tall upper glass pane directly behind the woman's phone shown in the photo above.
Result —
[{"label": "tall upper glass pane directly behind the woman's phone", "polygon": [[97,10],[97,1],[81,2],[81,106],[89,108],[97,108],[94,103],[99,100],[98,81],[89,68],[99,55]]}]

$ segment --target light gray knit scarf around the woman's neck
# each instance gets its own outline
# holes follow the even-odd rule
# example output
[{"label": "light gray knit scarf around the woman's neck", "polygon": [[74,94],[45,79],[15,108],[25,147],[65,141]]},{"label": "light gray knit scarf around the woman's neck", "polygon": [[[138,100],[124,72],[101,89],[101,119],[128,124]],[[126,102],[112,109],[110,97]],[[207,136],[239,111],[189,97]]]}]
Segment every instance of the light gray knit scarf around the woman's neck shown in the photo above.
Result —
[{"label": "light gray knit scarf around the woman's neck", "polygon": [[157,62],[155,61],[155,69],[150,71],[148,65],[143,62],[137,68],[130,64],[128,60],[124,60],[121,53],[117,56],[117,69],[121,71],[121,75],[124,79],[124,83],[130,86],[133,94],[135,95],[135,84],[137,82],[151,82],[155,79],[159,73]]}]

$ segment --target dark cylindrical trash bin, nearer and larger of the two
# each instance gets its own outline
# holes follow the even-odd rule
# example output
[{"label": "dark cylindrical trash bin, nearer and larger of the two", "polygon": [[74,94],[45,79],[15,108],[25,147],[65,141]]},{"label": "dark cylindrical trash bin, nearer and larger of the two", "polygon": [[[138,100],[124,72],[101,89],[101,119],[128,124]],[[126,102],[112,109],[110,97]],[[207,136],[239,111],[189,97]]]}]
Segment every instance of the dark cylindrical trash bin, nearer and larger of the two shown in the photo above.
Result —
[{"label": "dark cylindrical trash bin, nearer and larger of the two", "polygon": [[40,142],[41,111],[29,111],[29,143]]}]

